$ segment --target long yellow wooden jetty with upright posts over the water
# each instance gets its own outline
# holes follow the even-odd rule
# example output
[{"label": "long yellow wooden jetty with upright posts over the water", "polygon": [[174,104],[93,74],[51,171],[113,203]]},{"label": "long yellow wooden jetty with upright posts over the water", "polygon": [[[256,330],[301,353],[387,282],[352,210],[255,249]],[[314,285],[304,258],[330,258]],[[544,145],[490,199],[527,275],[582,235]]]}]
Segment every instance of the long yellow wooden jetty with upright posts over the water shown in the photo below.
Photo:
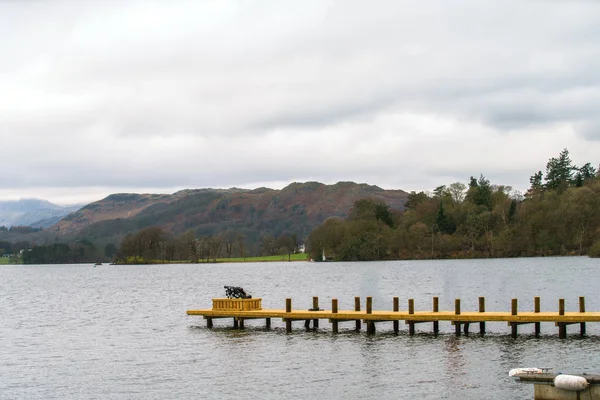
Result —
[{"label": "long yellow wooden jetty with upright posts over the water", "polygon": [[[306,328],[310,327],[312,321],[313,327],[318,328],[319,320],[328,320],[331,323],[331,329],[334,333],[338,332],[340,322],[354,322],[356,330],[360,331],[361,323],[367,326],[367,333],[375,333],[375,324],[380,322],[392,322],[394,332],[399,331],[399,321],[405,321],[409,326],[409,334],[415,334],[415,324],[432,323],[433,332],[439,332],[439,323],[449,321],[455,327],[455,334],[469,334],[469,325],[479,324],[479,333],[485,334],[486,322],[506,322],[511,326],[512,337],[517,337],[519,325],[534,324],[536,336],[540,334],[541,322],[554,322],[558,327],[560,338],[566,338],[567,326],[579,324],[580,334],[586,333],[587,322],[600,322],[600,312],[586,312],[585,298],[579,297],[579,311],[565,312],[565,300],[559,299],[558,311],[540,311],[540,298],[534,298],[534,311],[519,311],[517,299],[512,299],[511,310],[504,311],[486,311],[485,298],[479,297],[478,311],[462,311],[460,299],[454,302],[454,310],[440,311],[438,297],[433,297],[431,311],[415,311],[414,299],[408,300],[408,309],[400,310],[399,299],[392,299],[392,310],[373,310],[372,297],[366,298],[365,310],[361,310],[360,297],[354,299],[354,310],[339,310],[338,300],[331,300],[330,310],[319,309],[319,298],[313,297],[313,307],[308,310],[292,309],[292,299],[286,299],[285,309],[263,309],[262,299],[213,299],[212,309],[188,310],[187,315],[199,315],[206,319],[208,328],[213,327],[213,319],[233,318],[234,328],[244,328],[246,319],[265,319],[267,328],[271,327],[271,318],[281,318],[286,323],[286,332],[292,331],[293,321],[304,321]],[[462,329],[461,329],[462,328]]]}]

